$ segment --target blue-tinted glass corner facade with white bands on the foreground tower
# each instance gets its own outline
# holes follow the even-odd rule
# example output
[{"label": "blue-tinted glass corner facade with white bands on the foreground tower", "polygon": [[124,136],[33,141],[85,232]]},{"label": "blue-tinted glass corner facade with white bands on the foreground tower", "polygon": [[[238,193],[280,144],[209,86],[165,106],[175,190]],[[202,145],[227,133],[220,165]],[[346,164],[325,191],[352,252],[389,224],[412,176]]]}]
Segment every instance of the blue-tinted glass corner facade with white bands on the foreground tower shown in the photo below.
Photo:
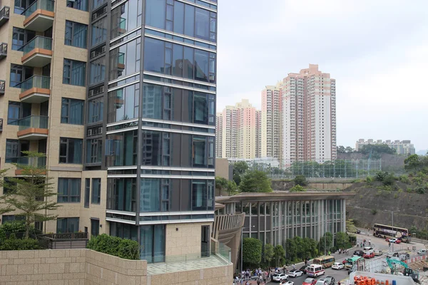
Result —
[{"label": "blue-tinted glass corner facade with white bands on the foreground tower", "polygon": [[148,262],[165,261],[166,224],[214,218],[216,2],[91,7],[85,169],[107,170],[110,234]]}]

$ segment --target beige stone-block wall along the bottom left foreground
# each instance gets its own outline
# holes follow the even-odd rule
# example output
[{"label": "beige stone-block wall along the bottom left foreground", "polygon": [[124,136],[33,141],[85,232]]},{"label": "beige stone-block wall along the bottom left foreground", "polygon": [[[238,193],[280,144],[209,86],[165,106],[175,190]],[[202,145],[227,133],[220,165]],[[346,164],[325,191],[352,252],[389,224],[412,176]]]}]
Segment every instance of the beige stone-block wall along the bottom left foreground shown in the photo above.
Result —
[{"label": "beige stone-block wall along the bottom left foreground", "polygon": [[0,251],[0,285],[231,284],[233,264],[148,276],[146,260],[91,249]]}]

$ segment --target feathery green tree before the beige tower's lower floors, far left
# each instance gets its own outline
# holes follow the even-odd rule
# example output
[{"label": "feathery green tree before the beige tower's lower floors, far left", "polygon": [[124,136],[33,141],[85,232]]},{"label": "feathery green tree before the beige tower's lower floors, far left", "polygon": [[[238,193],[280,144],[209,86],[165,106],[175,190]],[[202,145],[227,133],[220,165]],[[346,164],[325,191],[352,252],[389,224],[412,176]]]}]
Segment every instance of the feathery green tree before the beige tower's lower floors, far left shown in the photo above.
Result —
[{"label": "feathery green tree before the beige tower's lower floors, far left", "polygon": [[21,212],[19,215],[24,217],[25,237],[28,238],[31,224],[56,219],[57,215],[49,214],[48,211],[57,209],[59,205],[48,201],[49,197],[56,195],[56,192],[52,191],[53,183],[49,182],[52,178],[46,177],[46,166],[39,166],[37,163],[46,155],[34,151],[22,153],[28,157],[30,163],[29,165],[13,164],[21,169],[24,177],[9,178],[6,184],[11,191],[5,198],[5,202]]}]

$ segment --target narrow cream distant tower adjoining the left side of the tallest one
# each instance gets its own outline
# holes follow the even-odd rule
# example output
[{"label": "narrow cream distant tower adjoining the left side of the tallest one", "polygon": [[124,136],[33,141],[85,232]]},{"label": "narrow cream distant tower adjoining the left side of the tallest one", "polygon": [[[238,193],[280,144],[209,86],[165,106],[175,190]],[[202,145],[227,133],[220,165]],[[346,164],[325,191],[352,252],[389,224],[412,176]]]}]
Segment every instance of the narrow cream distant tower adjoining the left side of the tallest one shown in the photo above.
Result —
[{"label": "narrow cream distant tower adjoining the left side of the tallest one", "polygon": [[262,91],[261,157],[282,158],[282,84]]}]

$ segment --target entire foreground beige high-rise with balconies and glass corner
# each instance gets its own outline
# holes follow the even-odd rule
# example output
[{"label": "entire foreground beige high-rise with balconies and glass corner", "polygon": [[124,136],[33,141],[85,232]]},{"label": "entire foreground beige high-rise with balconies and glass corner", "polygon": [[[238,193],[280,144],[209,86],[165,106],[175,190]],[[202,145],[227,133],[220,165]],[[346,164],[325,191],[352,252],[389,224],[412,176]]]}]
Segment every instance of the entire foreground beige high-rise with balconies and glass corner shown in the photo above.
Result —
[{"label": "entire foreground beige high-rise with balconies and glass corner", "polygon": [[135,239],[149,263],[207,254],[217,0],[1,4],[0,166],[46,153],[61,204],[36,226]]}]

